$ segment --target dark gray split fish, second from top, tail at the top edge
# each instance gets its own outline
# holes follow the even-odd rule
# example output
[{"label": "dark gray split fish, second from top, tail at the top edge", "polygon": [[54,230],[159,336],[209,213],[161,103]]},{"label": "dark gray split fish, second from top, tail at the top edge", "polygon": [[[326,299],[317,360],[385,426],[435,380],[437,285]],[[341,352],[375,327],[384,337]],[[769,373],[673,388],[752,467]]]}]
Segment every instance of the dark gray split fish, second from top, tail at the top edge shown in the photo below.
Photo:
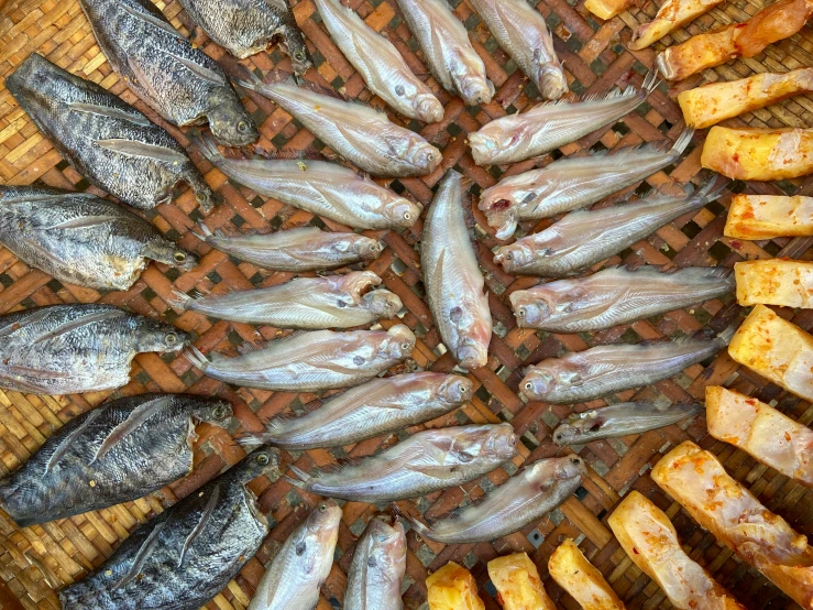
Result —
[{"label": "dark gray split fish, second from top, tail at the top edge", "polygon": [[141,99],[176,126],[209,121],[229,146],[260,137],[218,63],[150,0],[79,0],[108,62]]}]

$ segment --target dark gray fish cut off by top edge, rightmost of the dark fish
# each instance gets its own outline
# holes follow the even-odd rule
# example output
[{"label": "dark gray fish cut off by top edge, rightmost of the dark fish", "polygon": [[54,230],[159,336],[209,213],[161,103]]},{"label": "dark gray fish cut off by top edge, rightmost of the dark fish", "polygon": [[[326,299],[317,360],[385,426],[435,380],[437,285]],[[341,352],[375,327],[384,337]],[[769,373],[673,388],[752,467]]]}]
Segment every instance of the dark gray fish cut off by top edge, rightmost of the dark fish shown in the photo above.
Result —
[{"label": "dark gray fish cut off by top edge, rightmost of the dark fish", "polygon": [[290,56],[296,74],[314,65],[287,0],[180,0],[180,6],[235,57],[244,59],[282,39],[279,48]]}]

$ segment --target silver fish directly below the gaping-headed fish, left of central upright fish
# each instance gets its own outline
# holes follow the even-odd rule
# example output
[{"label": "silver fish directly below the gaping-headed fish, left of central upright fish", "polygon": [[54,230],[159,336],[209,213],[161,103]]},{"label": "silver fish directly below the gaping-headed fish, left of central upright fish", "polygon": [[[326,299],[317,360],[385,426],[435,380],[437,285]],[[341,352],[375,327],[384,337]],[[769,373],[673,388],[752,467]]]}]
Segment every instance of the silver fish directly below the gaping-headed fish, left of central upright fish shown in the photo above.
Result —
[{"label": "silver fish directly below the gaping-headed fish, left of central upright fish", "polygon": [[212,360],[190,347],[184,353],[207,375],[249,388],[308,392],[358,385],[409,358],[415,335],[403,324],[389,330],[295,333],[264,348]]}]

